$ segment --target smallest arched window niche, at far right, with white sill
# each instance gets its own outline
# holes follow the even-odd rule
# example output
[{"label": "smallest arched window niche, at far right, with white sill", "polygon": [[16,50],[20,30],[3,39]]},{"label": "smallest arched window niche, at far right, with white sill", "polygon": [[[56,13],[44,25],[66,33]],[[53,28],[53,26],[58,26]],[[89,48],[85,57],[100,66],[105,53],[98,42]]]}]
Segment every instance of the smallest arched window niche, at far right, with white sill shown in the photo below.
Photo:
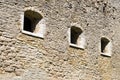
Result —
[{"label": "smallest arched window niche, at far right, with white sill", "polygon": [[111,41],[105,37],[101,38],[101,55],[110,57],[112,54]]}]

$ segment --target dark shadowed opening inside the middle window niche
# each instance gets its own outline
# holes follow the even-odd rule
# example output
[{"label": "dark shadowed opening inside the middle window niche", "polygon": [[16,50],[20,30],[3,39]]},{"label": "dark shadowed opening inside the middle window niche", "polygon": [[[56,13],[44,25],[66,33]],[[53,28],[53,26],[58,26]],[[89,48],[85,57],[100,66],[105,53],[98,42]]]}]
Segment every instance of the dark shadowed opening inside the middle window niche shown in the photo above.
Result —
[{"label": "dark shadowed opening inside the middle window niche", "polygon": [[71,27],[71,43],[72,44],[78,44],[78,39],[81,33],[82,33],[82,30],[80,28],[75,26]]}]

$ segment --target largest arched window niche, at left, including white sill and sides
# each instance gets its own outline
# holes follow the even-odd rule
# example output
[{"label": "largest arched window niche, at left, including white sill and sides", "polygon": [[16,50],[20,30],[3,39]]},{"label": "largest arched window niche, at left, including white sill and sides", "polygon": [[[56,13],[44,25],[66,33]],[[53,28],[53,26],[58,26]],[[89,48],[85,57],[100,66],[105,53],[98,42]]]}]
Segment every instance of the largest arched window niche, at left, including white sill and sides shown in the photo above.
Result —
[{"label": "largest arched window niche, at left, including white sill and sides", "polygon": [[46,25],[45,20],[40,13],[33,10],[26,10],[22,20],[23,33],[44,38]]}]

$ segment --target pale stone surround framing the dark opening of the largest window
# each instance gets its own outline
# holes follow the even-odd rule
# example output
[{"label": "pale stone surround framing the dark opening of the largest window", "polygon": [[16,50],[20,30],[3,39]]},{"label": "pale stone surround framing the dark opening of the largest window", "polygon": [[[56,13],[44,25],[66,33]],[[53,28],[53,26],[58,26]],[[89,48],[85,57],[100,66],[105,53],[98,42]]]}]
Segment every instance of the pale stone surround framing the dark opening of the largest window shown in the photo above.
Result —
[{"label": "pale stone surround framing the dark opening of the largest window", "polygon": [[[37,12],[38,14],[40,14],[43,18],[39,21],[39,28],[40,28],[40,30],[38,31],[38,33],[34,33],[34,32],[30,32],[30,31],[26,31],[26,30],[24,30],[24,16],[25,16],[25,11],[28,11],[28,10],[31,10],[31,11],[33,11],[33,12]],[[45,31],[46,31],[46,19],[44,18],[44,15],[40,12],[40,11],[38,11],[38,10],[36,10],[36,9],[34,9],[34,8],[26,8],[25,10],[24,10],[24,12],[23,12],[23,14],[21,15],[21,32],[22,33],[24,33],[24,34],[27,34],[27,35],[30,35],[30,36],[35,36],[35,37],[39,37],[39,38],[42,38],[42,39],[44,39],[44,35],[45,35]]]}]

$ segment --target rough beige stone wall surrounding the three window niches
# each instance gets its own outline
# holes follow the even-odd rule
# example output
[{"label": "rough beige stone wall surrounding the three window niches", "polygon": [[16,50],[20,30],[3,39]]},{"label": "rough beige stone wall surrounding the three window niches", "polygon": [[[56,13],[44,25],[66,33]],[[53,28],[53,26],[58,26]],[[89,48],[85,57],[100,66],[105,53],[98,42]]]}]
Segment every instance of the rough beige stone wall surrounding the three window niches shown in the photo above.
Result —
[{"label": "rough beige stone wall surrounding the three window niches", "polygon": [[[44,39],[21,33],[27,7],[46,18]],[[85,32],[84,50],[69,47],[72,23]],[[0,0],[0,80],[119,80],[119,26],[119,0]],[[111,57],[100,55],[102,36]]]}]

